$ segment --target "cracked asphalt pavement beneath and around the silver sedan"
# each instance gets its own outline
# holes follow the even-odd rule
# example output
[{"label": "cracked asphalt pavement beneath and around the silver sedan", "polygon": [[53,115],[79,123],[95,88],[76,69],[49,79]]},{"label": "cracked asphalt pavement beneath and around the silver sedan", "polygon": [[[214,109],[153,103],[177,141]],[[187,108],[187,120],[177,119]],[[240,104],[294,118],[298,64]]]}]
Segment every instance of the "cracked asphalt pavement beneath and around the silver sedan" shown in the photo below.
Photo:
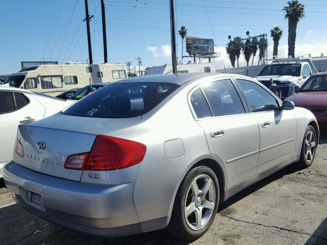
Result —
[{"label": "cracked asphalt pavement beneath and around the silver sedan", "polygon": [[0,244],[327,244],[327,137],[312,166],[290,165],[223,203],[209,231],[189,242],[155,231],[90,236],[47,222],[14,203],[0,182]]}]

